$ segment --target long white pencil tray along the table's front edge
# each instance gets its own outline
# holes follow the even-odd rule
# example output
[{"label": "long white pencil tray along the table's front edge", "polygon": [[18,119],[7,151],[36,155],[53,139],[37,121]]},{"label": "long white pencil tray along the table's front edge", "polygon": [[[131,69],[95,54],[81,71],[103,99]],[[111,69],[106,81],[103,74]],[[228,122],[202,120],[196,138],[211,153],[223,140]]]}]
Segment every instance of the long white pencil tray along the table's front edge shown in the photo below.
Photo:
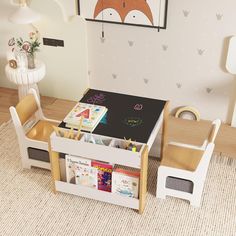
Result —
[{"label": "long white pencil tray along the table's front edge", "polygon": [[144,144],[132,142],[137,146],[137,152],[132,152],[123,148],[117,148],[117,142],[124,140],[99,136],[106,140],[107,145],[99,145],[84,140],[82,134],[80,140],[73,140],[64,137],[58,137],[55,133],[51,135],[51,149],[55,152],[85,157],[98,161],[105,161],[124,166],[141,168],[141,155]]}]

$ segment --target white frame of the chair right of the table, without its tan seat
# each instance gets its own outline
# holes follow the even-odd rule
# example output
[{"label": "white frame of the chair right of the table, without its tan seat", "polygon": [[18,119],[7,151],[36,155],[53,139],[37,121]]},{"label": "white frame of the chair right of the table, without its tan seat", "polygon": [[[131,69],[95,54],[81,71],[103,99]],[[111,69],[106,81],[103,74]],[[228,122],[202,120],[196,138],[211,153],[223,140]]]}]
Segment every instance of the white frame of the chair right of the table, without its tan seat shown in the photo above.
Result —
[{"label": "white frame of the chair right of the table, without its tan seat", "polygon": [[[188,149],[188,151],[192,150],[193,152],[197,151],[199,153],[202,152],[202,156],[195,170],[190,171],[188,168],[177,168],[174,164],[165,166],[163,165],[163,160],[158,168],[158,177],[157,177],[157,190],[156,196],[157,198],[165,199],[166,196],[174,196],[182,199],[186,199],[190,201],[190,204],[196,207],[199,207],[201,204],[201,195],[204,187],[204,182],[206,179],[206,174],[208,170],[208,166],[211,160],[211,156],[214,151],[214,141],[218,130],[220,128],[221,121],[219,119],[212,122],[212,128],[208,135],[208,138],[204,141],[203,145],[198,147],[194,145],[170,142],[168,145],[173,145],[175,147],[182,147]],[[173,148],[172,146],[172,148]],[[168,146],[166,147],[168,149]],[[166,150],[165,150],[166,152]],[[174,155],[174,153],[173,153]],[[164,157],[165,159],[165,153]],[[167,157],[166,157],[167,158]],[[189,160],[191,156],[189,156]],[[189,163],[191,160],[189,161]],[[188,165],[189,163],[186,163]],[[188,169],[188,170],[187,170]],[[193,182],[193,192],[184,192],[176,189],[170,189],[166,187],[166,181],[168,177],[174,177],[183,180],[189,180]]]}]

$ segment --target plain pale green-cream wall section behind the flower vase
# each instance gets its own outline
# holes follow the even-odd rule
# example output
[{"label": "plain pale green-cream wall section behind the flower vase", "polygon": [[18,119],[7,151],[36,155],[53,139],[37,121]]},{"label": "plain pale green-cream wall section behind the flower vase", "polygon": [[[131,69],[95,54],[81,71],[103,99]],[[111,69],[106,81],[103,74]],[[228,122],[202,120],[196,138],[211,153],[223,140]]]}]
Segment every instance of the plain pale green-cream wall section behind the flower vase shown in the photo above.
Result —
[{"label": "plain pale green-cream wall section behind the flower vase", "polygon": [[[41,37],[62,39],[65,44],[65,47],[40,46],[37,58],[43,60],[47,67],[46,76],[39,83],[40,93],[77,101],[89,83],[86,22],[76,15],[75,3],[74,0],[32,0],[31,8],[42,15],[41,20],[35,24]],[[9,23],[7,16],[14,7],[9,0],[3,0],[0,4],[0,13],[6,11],[0,22],[1,35],[4,36],[0,42],[3,49],[0,55],[0,86],[13,87],[4,75],[7,42],[12,36],[28,37],[27,33],[32,28]]]}]

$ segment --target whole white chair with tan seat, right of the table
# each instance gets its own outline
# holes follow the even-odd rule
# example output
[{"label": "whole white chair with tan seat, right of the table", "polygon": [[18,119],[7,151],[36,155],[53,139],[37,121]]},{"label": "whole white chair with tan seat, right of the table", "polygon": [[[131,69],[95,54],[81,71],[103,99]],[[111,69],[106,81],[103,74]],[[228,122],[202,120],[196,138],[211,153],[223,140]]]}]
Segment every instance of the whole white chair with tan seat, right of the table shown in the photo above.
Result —
[{"label": "whole white chair with tan seat, right of the table", "polygon": [[214,141],[220,125],[219,119],[212,122],[209,136],[201,147],[174,142],[166,146],[158,168],[157,198],[174,196],[189,200],[192,206],[200,206],[208,166],[215,147]]}]

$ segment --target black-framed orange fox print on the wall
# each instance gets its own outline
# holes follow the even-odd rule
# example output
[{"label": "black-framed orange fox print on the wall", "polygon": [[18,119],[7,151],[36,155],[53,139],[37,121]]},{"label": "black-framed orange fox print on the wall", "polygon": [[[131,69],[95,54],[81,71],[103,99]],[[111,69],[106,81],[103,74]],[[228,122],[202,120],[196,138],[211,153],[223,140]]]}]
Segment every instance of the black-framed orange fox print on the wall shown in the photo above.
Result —
[{"label": "black-framed orange fox print on the wall", "polygon": [[78,0],[86,20],[166,29],[168,0]]}]

